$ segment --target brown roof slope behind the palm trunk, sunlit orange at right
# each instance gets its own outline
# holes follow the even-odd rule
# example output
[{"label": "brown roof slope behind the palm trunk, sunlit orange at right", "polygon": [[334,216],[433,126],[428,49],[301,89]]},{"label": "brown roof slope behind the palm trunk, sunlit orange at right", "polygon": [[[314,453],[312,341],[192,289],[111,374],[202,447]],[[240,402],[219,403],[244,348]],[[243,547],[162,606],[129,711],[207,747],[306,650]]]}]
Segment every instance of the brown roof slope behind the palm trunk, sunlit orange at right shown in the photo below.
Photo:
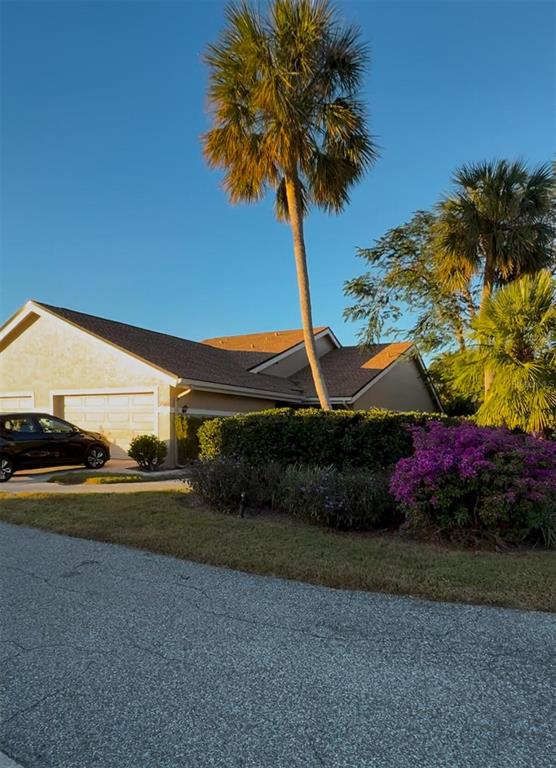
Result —
[{"label": "brown roof slope behind the palm trunk, sunlit orange at right", "polygon": [[[320,359],[328,394],[330,397],[353,397],[411,346],[411,342],[403,342],[375,344],[364,351],[360,347],[333,349]],[[316,396],[309,366],[290,378],[301,387],[305,397]]]}]

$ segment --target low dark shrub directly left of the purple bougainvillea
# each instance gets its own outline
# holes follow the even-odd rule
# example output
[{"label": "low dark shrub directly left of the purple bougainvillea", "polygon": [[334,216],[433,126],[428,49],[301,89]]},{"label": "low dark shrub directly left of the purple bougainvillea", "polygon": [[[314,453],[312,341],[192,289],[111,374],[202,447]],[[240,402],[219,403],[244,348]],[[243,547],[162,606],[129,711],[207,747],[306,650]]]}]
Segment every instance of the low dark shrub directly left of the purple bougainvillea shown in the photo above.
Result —
[{"label": "low dark shrub directly left of the purple bougainvillea", "polygon": [[398,527],[403,516],[388,490],[385,472],[334,467],[286,467],[274,507],[342,531]]}]

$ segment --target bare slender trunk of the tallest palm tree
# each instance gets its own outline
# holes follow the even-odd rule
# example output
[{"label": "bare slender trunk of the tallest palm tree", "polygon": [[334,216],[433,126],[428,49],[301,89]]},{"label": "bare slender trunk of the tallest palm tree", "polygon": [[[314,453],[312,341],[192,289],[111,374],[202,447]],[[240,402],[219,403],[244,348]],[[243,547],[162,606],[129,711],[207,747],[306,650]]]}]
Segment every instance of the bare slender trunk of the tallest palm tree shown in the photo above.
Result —
[{"label": "bare slender trunk of the tallest palm tree", "polygon": [[293,236],[295,271],[297,274],[299,306],[301,309],[305,349],[307,350],[307,358],[311,367],[311,373],[313,375],[313,381],[315,383],[315,390],[319,398],[320,407],[324,411],[330,411],[332,406],[330,405],[330,400],[328,398],[328,390],[322,375],[320,360],[317,356],[315,336],[313,334],[311,294],[309,292],[309,273],[307,271],[307,254],[305,252],[303,216],[301,212],[301,198],[297,175],[292,175],[286,178],[286,196],[288,199],[288,213]]}]

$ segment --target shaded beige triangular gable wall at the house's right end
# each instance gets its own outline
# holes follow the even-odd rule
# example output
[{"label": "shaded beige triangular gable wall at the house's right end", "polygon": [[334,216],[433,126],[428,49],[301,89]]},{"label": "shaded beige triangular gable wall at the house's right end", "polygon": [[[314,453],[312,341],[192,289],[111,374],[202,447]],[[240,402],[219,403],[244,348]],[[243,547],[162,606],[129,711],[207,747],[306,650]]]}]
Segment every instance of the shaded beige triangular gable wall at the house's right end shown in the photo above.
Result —
[{"label": "shaded beige triangular gable wall at the house's right end", "polygon": [[392,366],[355,401],[353,407],[355,410],[388,408],[392,411],[438,411],[417,363],[412,359],[402,360]]}]

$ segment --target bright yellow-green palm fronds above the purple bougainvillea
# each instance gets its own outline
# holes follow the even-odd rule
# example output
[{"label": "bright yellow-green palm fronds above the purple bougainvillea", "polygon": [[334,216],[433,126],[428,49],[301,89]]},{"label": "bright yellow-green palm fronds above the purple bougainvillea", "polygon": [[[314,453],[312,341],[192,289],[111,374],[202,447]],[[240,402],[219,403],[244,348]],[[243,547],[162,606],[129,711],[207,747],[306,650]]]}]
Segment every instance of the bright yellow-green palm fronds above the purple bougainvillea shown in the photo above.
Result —
[{"label": "bright yellow-green palm fronds above the purple bougainvillea", "polygon": [[556,281],[525,275],[487,299],[472,323],[475,348],[459,355],[457,386],[492,383],[477,420],[527,432],[556,427]]}]

